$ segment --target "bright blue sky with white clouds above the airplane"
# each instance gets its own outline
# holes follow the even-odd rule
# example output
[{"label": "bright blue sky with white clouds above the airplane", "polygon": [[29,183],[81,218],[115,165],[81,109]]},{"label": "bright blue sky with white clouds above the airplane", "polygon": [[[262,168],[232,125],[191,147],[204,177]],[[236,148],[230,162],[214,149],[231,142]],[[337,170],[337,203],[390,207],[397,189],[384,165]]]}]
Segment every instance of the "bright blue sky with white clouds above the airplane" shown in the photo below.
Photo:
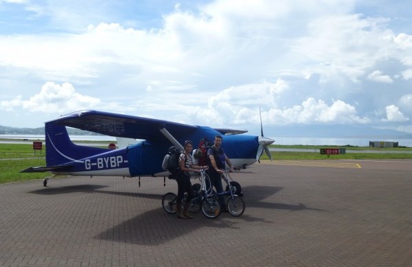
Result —
[{"label": "bright blue sky with white clouds above the airplane", "polygon": [[412,3],[0,0],[0,125],[81,109],[412,133]]}]

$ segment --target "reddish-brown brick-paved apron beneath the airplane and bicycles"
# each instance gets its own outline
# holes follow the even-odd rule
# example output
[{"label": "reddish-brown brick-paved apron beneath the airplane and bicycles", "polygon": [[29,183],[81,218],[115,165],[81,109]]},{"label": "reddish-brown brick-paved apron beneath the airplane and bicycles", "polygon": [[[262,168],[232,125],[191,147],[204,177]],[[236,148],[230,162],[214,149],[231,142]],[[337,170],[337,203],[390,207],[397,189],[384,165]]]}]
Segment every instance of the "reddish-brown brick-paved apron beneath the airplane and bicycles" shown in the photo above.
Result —
[{"label": "reddish-brown brick-paved apron beneath the airplane and bicycles", "polygon": [[[0,185],[0,266],[411,266],[412,161],[262,161],[245,213],[166,213],[166,178]],[[196,181],[192,181],[196,182]]]}]

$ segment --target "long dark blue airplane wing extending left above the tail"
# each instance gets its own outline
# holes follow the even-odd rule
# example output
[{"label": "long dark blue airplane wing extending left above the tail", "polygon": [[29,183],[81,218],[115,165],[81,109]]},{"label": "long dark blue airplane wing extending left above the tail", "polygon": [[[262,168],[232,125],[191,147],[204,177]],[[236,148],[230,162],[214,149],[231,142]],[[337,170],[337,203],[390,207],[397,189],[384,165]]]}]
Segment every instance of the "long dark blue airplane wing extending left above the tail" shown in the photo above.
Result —
[{"label": "long dark blue airplane wing extending left above the tail", "polygon": [[169,133],[178,135],[181,132],[195,131],[196,126],[184,125],[167,120],[156,120],[153,118],[143,118],[128,116],[123,114],[113,114],[103,111],[83,110],[65,114],[50,122],[73,127],[85,131],[101,133],[106,136],[116,136],[123,138],[135,138],[144,140],[156,140],[164,138],[160,129],[167,129]]}]

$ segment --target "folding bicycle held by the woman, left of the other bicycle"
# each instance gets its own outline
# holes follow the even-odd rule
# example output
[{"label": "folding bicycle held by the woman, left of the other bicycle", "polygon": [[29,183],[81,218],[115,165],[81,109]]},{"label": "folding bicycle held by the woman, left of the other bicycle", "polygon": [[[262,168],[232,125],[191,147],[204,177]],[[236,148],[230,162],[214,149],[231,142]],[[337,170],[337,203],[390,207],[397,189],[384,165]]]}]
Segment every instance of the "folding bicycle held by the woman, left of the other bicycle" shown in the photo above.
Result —
[{"label": "folding bicycle held by the woman, left of the other bicycle", "polygon": [[[208,219],[217,218],[222,211],[222,205],[220,204],[218,197],[212,193],[212,189],[206,188],[206,179],[209,179],[206,171],[204,169],[200,169],[199,174],[199,180],[202,184],[200,186],[200,190],[195,193],[190,202],[189,211],[197,212],[201,210],[203,215],[205,215]],[[187,196],[187,194],[185,195]],[[176,197],[177,195],[172,192],[165,193],[165,195],[163,195],[162,206],[167,213],[174,214],[177,212]],[[185,203],[184,200],[182,200],[182,204],[183,203]]]}]

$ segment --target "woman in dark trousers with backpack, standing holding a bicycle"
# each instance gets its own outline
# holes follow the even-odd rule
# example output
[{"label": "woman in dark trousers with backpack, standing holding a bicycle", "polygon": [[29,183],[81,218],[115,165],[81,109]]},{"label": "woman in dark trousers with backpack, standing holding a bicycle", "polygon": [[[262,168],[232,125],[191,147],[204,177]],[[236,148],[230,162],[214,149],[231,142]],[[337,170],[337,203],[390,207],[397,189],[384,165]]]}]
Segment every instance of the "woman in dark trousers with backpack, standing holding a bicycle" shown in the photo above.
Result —
[{"label": "woman in dark trousers with backpack, standing holding a bicycle", "polygon": [[[181,153],[181,156],[179,156],[179,167],[181,168],[181,173],[176,177],[176,182],[178,184],[178,193],[176,199],[177,217],[180,219],[192,219],[193,216],[189,214],[189,205],[193,197],[192,182],[190,182],[190,172],[198,171],[199,169],[208,169],[208,167],[193,164],[191,153],[193,149],[192,141],[185,141],[183,148],[185,149],[185,152]],[[182,198],[185,192],[187,192],[187,198],[182,211]]]}]

